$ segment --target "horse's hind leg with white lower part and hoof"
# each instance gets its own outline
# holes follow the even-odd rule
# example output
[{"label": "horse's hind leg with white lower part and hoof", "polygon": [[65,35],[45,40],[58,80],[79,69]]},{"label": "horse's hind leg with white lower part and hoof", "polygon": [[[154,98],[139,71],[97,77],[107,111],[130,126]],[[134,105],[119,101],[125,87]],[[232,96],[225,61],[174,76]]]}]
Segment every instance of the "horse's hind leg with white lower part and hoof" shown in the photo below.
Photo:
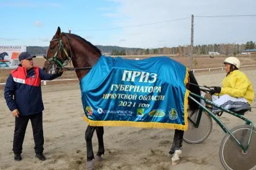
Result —
[{"label": "horse's hind leg with white lower part and hoof", "polygon": [[184,134],[183,130],[176,130],[175,129],[174,142],[172,143],[172,147],[171,147],[171,150],[169,152],[169,154],[171,154],[171,155],[174,154],[174,156],[172,156],[172,164],[173,165],[176,165],[180,162],[179,157],[181,155],[183,134]]}]

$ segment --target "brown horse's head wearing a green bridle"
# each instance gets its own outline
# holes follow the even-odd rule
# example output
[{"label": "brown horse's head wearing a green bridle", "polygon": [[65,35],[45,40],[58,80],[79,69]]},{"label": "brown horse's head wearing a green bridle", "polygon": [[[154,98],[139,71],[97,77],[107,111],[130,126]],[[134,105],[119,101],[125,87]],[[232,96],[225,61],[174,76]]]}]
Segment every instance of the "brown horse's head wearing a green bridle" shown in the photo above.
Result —
[{"label": "brown horse's head wearing a green bridle", "polygon": [[71,62],[71,55],[69,37],[67,33],[61,33],[60,27],[58,27],[50,41],[47,56],[44,56],[46,62],[44,62],[43,70],[48,74],[58,73],[60,69]]}]

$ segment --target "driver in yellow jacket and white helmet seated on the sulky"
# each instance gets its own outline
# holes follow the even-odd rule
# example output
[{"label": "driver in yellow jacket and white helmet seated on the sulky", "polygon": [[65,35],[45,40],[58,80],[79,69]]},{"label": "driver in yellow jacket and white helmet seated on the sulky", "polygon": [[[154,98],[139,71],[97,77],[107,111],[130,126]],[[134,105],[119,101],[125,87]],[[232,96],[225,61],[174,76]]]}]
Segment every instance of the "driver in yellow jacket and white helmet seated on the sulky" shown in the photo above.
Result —
[{"label": "driver in yellow jacket and white helmet seated on the sulky", "polygon": [[[228,57],[224,64],[227,74],[222,80],[222,87],[214,87],[214,90],[205,94],[205,98],[225,109],[250,106],[254,99],[253,85],[249,78],[239,70],[239,59]],[[212,112],[216,114],[222,111],[213,106]]]}]

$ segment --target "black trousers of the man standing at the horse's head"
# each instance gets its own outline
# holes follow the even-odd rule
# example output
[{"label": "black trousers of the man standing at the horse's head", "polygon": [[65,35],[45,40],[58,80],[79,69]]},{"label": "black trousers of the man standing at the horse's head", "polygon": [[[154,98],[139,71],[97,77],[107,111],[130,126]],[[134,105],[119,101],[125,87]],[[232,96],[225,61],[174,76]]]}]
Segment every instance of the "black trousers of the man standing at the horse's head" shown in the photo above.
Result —
[{"label": "black trousers of the man standing at the horse's head", "polygon": [[44,133],[43,133],[43,113],[36,113],[29,116],[15,117],[15,130],[13,139],[13,152],[14,154],[22,153],[22,144],[24,141],[28,120],[31,121],[34,141],[35,152],[42,153],[44,148]]}]

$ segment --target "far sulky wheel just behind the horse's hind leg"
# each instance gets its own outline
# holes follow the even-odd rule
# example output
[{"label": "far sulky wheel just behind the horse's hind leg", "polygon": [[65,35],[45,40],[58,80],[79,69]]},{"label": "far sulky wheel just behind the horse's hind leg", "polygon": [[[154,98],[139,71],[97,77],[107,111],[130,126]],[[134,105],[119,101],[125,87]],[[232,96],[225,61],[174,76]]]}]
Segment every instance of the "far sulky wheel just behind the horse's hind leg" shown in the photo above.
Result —
[{"label": "far sulky wheel just behind the horse's hind leg", "polygon": [[[199,111],[192,113],[188,109],[188,117],[196,122]],[[212,131],[212,117],[208,113],[203,112],[199,127],[196,128],[193,122],[188,118],[188,130],[184,131],[183,141],[191,144],[201,143],[205,141]]]}]

